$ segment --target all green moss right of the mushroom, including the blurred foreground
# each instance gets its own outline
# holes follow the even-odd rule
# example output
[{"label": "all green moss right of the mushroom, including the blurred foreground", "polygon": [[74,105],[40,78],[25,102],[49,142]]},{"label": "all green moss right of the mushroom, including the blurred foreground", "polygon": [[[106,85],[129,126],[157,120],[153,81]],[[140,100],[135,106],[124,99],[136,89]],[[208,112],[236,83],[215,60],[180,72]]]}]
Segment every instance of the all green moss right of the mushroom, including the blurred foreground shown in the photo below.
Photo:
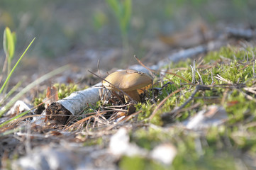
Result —
[{"label": "all green moss right of the mushroom, including the blurred foreground", "polygon": [[[252,51],[255,49],[241,50],[237,47],[222,47],[218,52],[209,52],[203,64],[209,65],[206,69],[197,69],[205,85],[214,85],[206,91],[199,91],[194,98],[184,107],[185,111],[179,114],[174,121],[182,121],[197,113],[202,106],[218,104],[223,106],[228,113],[225,124],[212,127],[198,134],[183,128],[160,130],[141,128],[130,134],[130,139],[144,149],[152,150],[163,142],[171,142],[177,147],[177,156],[171,166],[157,164],[158,169],[235,169],[240,154],[255,153],[256,151],[256,104],[248,99],[245,94],[255,98],[255,94],[245,91],[243,86],[255,86],[253,79]],[[247,56],[248,55],[248,56]],[[214,64],[214,65],[213,65]],[[192,80],[191,61],[172,63],[169,67],[186,67],[187,70],[177,72],[178,75],[189,81]],[[196,84],[201,84],[199,74],[196,73]],[[218,76],[219,75],[219,76]],[[177,106],[182,106],[195,91],[196,86],[186,85],[187,82],[171,74],[165,75],[164,81],[172,81],[162,89],[157,96],[157,105],[160,104],[173,91],[184,88],[174,96],[167,98],[162,107],[157,111],[157,116],[170,112]],[[218,79],[223,78],[224,80]],[[184,84],[185,83],[185,84]],[[235,86],[229,86],[234,84]],[[222,86],[225,85],[225,86]],[[158,87],[161,87],[158,85]],[[191,105],[201,103],[196,109],[187,109]],[[152,103],[138,104],[137,109],[142,113],[138,120],[148,118],[156,108]],[[151,122],[152,123],[152,122]],[[154,169],[154,161],[138,157],[123,157],[122,168],[132,168],[129,162],[138,162],[137,169]],[[133,167],[136,169],[136,167]]]}]

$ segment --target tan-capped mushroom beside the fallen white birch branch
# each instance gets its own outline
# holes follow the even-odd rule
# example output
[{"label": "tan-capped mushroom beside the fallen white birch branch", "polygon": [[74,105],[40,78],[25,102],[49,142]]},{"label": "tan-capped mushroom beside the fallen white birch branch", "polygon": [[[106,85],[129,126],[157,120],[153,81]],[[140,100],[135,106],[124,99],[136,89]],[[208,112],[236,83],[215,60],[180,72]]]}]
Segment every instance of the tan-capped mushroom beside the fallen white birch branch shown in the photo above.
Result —
[{"label": "tan-capped mushroom beside the fallen white birch branch", "polygon": [[102,85],[111,91],[123,91],[126,102],[130,101],[129,97],[135,101],[140,101],[137,89],[152,84],[152,78],[142,72],[135,70],[125,70],[109,74]]}]

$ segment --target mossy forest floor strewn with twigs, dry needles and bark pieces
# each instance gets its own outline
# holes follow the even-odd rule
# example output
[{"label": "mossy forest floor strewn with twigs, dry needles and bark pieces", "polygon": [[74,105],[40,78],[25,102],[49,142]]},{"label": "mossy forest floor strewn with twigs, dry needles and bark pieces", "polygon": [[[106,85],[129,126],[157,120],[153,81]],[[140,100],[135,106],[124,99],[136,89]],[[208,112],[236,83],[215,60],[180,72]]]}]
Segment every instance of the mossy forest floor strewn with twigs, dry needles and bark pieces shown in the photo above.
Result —
[{"label": "mossy forest floor strewn with twigs, dry needles and bark pieces", "polygon": [[[120,49],[74,49],[50,61],[24,57],[9,84],[26,75],[16,91],[45,70],[68,68],[30,89],[0,118],[2,169],[255,169],[256,31],[189,31],[145,41],[148,54],[128,64]],[[145,69],[154,84],[142,102],[102,94],[64,124],[45,118],[45,108],[90,89],[99,77],[161,61],[160,68]]]}]

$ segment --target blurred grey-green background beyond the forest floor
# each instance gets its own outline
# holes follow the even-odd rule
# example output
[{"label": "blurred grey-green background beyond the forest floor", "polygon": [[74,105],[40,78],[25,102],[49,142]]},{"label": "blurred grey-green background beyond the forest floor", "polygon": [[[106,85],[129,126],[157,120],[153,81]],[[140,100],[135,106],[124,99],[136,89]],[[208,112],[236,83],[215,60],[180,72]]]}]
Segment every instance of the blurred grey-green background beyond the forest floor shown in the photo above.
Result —
[{"label": "blurred grey-green background beyond the forest floor", "polygon": [[[6,26],[16,31],[18,60],[35,37],[21,66],[39,71],[67,63],[95,69],[98,60],[104,69],[124,68],[136,63],[133,55],[154,63],[226,26],[255,28],[255,21],[255,0],[0,1],[0,40]],[[2,62],[2,43],[0,49]]]}]

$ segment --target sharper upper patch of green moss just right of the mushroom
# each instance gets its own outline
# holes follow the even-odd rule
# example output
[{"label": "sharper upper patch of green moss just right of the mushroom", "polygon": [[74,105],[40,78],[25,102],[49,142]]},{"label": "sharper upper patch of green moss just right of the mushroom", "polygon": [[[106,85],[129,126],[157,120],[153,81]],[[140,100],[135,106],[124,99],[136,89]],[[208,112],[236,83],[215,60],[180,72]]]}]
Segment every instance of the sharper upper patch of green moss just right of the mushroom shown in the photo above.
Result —
[{"label": "sharper upper patch of green moss just right of the mushroom", "polygon": [[[255,61],[252,60],[251,51],[253,51],[253,49],[250,49],[250,51],[247,52],[245,50],[240,50],[237,47],[222,47],[221,50],[219,50],[218,52],[209,52],[208,55],[206,55],[206,57],[204,58],[204,64],[211,65],[214,62],[217,62],[217,64],[209,69],[197,69],[197,71],[201,75],[203,83],[206,85],[211,85],[214,81],[215,85],[231,83],[242,85],[246,84],[247,86],[252,86],[254,84],[252,82],[252,62]],[[247,55],[249,62],[247,62]],[[252,61],[250,62],[250,60]],[[191,65],[190,60],[187,60],[187,62],[182,61],[182,63],[179,62],[177,65],[173,63],[171,64],[172,67],[186,67],[187,70],[180,71],[177,74],[184,77],[184,79],[191,81],[192,74],[189,65]],[[201,84],[199,74],[196,73],[195,75],[197,84]],[[195,90],[195,86],[182,86],[181,83],[183,82],[183,80],[181,80],[179,77],[174,77],[171,74],[166,76],[167,79],[170,79],[172,82],[174,82],[174,84],[169,85],[168,88],[162,90],[162,94],[158,96],[160,101],[162,101],[169,93],[171,93],[175,89],[179,89],[181,87],[186,87],[186,89],[182,91],[182,95],[179,96],[180,93],[177,94],[174,97],[175,100],[168,99],[166,101],[166,103],[168,104],[163,107],[162,113],[171,111],[176,105],[181,106],[185,101],[187,101],[189,96],[191,96],[191,93]],[[226,80],[220,80],[217,77],[222,77]],[[191,104],[193,103],[201,103],[204,105],[210,103],[220,104],[221,99],[223,98],[224,91],[226,91],[226,89],[222,87],[216,87],[208,91],[199,91],[194,99],[187,106],[185,106],[185,108],[191,106]],[[242,100],[240,103],[247,102],[247,100],[245,101],[244,94],[241,94],[240,98]],[[234,100],[238,100],[238,98],[235,98]],[[254,106],[251,102],[249,102],[248,104],[250,106]],[[245,106],[247,106],[247,104]],[[243,108],[241,108],[241,106],[238,106],[239,108],[235,110],[235,112],[237,113],[237,120],[239,120],[242,116],[241,114],[245,112],[247,108],[245,106]],[[187,118],[186,115],[188,115],[188,113],[184,113],[184,116],[182,115],[182,117]]]}]

